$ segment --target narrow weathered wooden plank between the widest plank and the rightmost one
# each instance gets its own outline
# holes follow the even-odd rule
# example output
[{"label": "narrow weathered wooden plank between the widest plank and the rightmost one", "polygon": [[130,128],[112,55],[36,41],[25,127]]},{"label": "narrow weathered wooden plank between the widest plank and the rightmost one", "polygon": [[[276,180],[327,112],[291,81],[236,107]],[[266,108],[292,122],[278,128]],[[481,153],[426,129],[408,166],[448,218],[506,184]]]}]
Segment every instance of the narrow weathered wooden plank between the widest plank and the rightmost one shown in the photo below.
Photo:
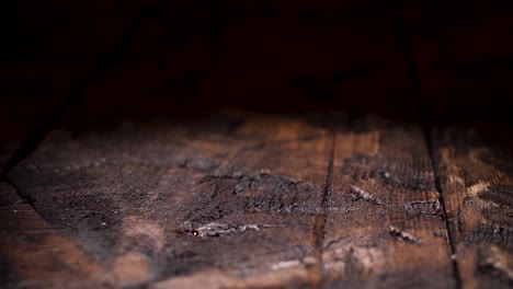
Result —
[{"label": "narrow weathered wooden plank between the widest plank and the rightmost one", "polygon": [[328,288],[454,288],[422,130],[367,118],[337,134],[322,262]]}]

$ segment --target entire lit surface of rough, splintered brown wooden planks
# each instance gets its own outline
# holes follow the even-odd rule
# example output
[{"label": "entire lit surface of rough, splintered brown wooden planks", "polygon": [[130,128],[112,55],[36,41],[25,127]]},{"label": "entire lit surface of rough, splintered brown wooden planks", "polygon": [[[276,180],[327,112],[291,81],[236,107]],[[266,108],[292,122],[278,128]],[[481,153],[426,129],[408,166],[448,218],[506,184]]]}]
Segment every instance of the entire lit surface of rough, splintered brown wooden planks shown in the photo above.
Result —
[{"label": "entire lit surface of rough, splintered brown wooden planks", "polygon": [[[1,282],[456,288],[461,277],[482,288],[511,281],[511,154],[465,147],[449,132],[438,137],[454,256],[421,129],[331,117],[337,125],[327,116],[230,113],[50,132],[11,172],[12,185],[0,186]],[[15,189],[35,203],[24,204]]]}]

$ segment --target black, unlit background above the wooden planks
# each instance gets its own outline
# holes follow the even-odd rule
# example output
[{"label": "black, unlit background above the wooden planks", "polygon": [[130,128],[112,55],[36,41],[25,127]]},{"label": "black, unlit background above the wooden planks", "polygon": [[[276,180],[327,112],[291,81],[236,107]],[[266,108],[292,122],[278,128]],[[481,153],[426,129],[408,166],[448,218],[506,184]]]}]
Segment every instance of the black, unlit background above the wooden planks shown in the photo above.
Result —
[{"label": "black, unlit background above the wooden planks", "polygon": [[37,127],[221,108],[375,113],[511,140],[513,1],[22,0],[0,11],[1,143]]}]

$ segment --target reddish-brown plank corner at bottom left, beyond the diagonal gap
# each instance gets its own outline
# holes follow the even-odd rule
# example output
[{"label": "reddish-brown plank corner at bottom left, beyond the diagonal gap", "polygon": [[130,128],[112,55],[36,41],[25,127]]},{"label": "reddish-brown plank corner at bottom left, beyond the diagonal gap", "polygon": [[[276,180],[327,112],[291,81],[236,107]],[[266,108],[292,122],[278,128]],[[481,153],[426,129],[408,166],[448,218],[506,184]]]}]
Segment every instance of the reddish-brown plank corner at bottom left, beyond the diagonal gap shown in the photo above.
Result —
[{"label": "reddish-brown plank corner at bottom left, beyond the diagonal gap", "polygon": [[[98,287],[101,264],[0,183],[0,284],[11,288]],[[98,279],[96,279],[98,280]]]}]

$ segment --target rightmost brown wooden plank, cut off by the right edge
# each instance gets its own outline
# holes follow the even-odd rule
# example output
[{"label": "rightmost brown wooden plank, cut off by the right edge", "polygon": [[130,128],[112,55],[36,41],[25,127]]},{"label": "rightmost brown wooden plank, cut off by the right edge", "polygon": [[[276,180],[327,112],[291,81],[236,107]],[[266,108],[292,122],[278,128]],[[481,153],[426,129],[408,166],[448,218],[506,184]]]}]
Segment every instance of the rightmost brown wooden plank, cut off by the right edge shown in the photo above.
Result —
[{"label": "rightmost brown wooden plank, cut off by the right edge", "polygon": [[476,131],[435,131],[436,158],[464,288],[513,286],[513,154]]}]

